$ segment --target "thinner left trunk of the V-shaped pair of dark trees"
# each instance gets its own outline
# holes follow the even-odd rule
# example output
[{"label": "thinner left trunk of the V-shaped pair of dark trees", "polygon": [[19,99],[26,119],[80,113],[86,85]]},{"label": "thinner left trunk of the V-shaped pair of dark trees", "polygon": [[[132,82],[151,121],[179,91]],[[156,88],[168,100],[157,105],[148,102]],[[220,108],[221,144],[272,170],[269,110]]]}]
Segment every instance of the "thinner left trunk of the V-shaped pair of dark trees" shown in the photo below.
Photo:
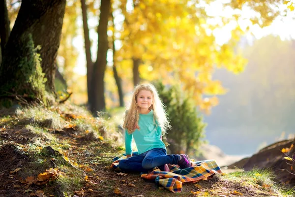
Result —
[{"label": "thinner left trunk of the V-shaped pair of dark trees", "polygon": [[87,66],[87,93],[88,93],[88,104],[93,106],[93,95],[91,93],[91,77],[93,73],[93,62],[91,60],[91,45],[89,38],[89,28],[88,28],[88,17],[87,17],[87,5],[85,0],[81,0],[82,8],[82,19],[83,19],[83,30],[84,30],[84,40],[85,40],[85,54],[86,54],[86,66]]}]

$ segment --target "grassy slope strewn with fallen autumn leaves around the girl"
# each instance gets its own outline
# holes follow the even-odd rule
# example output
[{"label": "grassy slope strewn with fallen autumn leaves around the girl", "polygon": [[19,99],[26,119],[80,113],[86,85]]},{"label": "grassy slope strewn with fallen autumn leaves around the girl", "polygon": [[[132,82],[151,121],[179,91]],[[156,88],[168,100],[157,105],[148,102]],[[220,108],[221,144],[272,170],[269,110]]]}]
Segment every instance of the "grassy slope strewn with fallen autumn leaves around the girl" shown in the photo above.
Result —
[{"label": "grassy slope strewn with fallen autumn leaves around the girl", "polygon": [[[172,193],[110,168],[123,153],[112,118],[62,104],[0,110],[0,197],[291,196],[268,171],[216,174]],[[214,158],[212,158],[214,159]]]}]

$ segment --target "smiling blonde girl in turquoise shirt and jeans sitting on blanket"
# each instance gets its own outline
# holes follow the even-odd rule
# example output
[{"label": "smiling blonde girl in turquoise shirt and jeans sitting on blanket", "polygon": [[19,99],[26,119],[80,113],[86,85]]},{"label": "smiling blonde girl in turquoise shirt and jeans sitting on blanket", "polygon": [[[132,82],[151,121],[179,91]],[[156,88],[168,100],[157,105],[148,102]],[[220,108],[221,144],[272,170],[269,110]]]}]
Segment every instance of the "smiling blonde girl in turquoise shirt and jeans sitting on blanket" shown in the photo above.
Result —
[{"label": "smiling blonde girl in turquoise shirt and jeans sitting on blanket", "polygon": [[[190,167],[187,155],[167,155],[161,136],[170,127],[164,105],[155,87],[151,84],[137,85],[124,116],[127,159],[119,162],[120,170],[147,172],[164,164],[178,164],[180,168]],[[133,137],[138,149],[138,155],[134,156],[131,155]]]}]

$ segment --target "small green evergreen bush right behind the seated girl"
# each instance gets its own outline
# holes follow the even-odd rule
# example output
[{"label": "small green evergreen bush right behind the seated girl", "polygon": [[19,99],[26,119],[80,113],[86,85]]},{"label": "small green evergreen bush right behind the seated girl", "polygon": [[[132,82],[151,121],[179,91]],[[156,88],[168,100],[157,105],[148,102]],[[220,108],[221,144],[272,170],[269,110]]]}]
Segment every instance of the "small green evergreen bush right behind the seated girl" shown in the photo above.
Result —
[{"label": "small green evergreen bush right behind the seated girl", "polygon": [[[155,84],[159,96],[167,107],[172,129],[167,133],[171,153],[192,154],[198,150],[201,138],[205,136],[206,124],[198,113],[191,96],[181,90],[180,85],[165,88],[162,83]],[[193,154],[196,155],[196,154]]]}]

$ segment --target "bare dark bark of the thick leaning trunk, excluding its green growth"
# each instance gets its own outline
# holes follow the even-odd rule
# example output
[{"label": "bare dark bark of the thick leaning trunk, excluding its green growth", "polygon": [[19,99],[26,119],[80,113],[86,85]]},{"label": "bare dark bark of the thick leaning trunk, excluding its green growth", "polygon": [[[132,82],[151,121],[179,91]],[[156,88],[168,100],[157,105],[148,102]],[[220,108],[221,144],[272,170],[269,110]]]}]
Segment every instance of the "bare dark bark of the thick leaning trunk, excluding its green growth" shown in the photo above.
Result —
[{"label": "bare dark bark of the thick leaning trunk, excluding its green growth", "polygon": [[34,46],[41,46],[41,67],[47,82],[46,89],[54,92],[55,64],[66,0],[23,1],[14,27],[3,52],[0,84],[17,81],[20,61],[29,53],[22,38],[32,35]]}]

